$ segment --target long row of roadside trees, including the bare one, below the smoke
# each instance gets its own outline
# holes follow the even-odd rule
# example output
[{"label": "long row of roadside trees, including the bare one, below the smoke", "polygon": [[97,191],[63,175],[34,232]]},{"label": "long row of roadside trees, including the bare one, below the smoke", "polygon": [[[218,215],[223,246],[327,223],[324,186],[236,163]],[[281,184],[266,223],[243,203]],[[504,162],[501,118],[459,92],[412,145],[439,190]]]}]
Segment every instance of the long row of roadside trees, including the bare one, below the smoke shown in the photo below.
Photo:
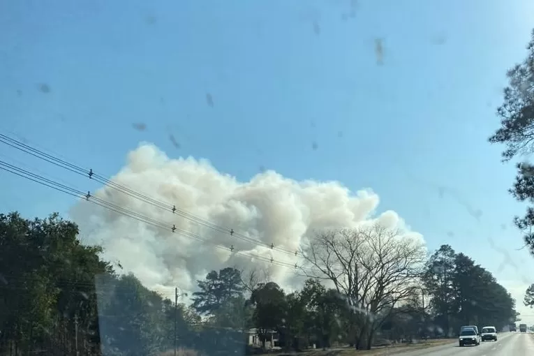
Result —
[{"label": "long row of roadside trees, including the bare one, below the smoke", "polygon": [[302,288],[225,267],[175,303],[121,274],[57,214],[0,214],[0,355],[228,355],[266,348],[365,349],[514,322],[514,299],[450,246],[369,225],[320,232]]}]

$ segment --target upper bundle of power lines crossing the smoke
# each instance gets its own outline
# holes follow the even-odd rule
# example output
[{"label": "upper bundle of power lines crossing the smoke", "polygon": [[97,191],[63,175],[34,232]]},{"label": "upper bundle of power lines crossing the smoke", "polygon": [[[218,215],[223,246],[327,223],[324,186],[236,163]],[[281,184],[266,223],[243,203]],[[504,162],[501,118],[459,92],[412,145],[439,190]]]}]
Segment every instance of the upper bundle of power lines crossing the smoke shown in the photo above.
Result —
[{"label": "upper bundle of power lines crossing the smoke", "polygon": [[[289,249],[285,249],[281,246],[274,246],[274,244],[267,244],[260,239],[255,239],[249,235],[244,235],[242,233],[239,233],[235,231],[233,228],[226,228],[221,225],[217,225],[216,223],[212,223],[211,221],[207,221],[204,218],[200,218],[198,216],[195,216],[189,212],[186,212],[184,209],[180,209],[179,207],[176,207],[176,205],[171,205],[166,202],[158,201],[154,198],[150,198],[148,195],[144,195],[143,193],[140,193],[138,191],[135,191],[131,188],[128,188],[128,186],[124,186],[121,184],[117,184],[116,182],[112,181],[111,179],[108,179],[102,175],[98,175],[96,172],[94,172],[91,168],[87,170],[87,168],[82,168],[79,165],[75,165],[73,163],[68,163],[67,161],[64,161],[61,158],[58,158],[56,156],[53,156],[51,154],[47,154],[44,151],[41,151],[40,149],[36,149],[34,147],[29,146],[29,144],[25,144],[24,142],[21,142],[20,140],[15,140],[14,138],[10,138],[7,135],[3,135],[0,133],[0,142],[3,144],[7,144],[10,147],[13,147],[15,149],[19,149],[20,151],[23,151],[27,154],[30,154],[31,156],[34,156],[36,158],[40,158],[43,161],[46,161],[48,163],[52,163],[54,165],[57,165],[60,168],[64,168],[70,172],[73,172],[77,175],[82,175],[84,177],[88,177],[89,179],[93,179],[94,181],[98,181],[99,183],[114,189],[115,191],[119,191],[120,193],[126,194],[130,196],[131,198],[138,199],[142,202],[145,202],[149,205],[152,205],[154,207],[157,207],[158,209],[163,209],[167,212],[172,212],[172,214],[176,214],[178,216],[181,216],[183,218],[186,218],[189,221],[192,221],[193,223],[197,223],[198,225],[205,226],[206,228],[210,228],[212,230],[215,230],[217,232],[221,232],[225,235],[230,235],[231,237],[236,237],[237,239],[241,239],[244,242],[249,242],[251,244],[255,245],[262,245],[265,247],[268,247],[269,249],[280,251],[282,253],[285,253],[287,255],[299,255],[299,251],[291,251]],[[302,255],[300,256],[302,257]]]}]

